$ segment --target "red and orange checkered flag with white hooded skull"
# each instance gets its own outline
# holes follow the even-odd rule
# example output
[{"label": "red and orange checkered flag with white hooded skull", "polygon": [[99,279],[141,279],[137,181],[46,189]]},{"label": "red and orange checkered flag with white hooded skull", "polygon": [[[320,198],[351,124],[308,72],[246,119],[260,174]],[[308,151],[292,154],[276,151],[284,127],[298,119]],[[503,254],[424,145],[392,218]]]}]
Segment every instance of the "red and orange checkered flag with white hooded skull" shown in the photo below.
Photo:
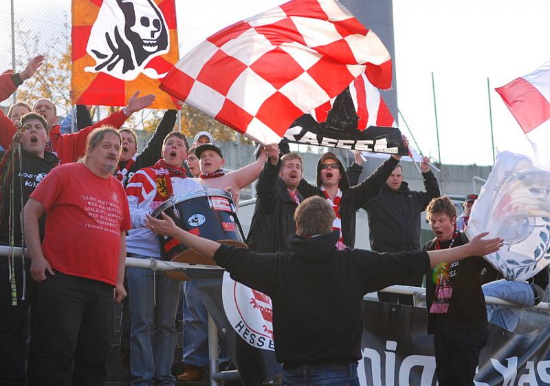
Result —
[{"label": "red and orange checkered flag with white hooded skull", "polygon": [[73,0],[74,102],[124,106],[140,90],[154,109],[174,109],[158,91],[179,58],[175,0]]}]

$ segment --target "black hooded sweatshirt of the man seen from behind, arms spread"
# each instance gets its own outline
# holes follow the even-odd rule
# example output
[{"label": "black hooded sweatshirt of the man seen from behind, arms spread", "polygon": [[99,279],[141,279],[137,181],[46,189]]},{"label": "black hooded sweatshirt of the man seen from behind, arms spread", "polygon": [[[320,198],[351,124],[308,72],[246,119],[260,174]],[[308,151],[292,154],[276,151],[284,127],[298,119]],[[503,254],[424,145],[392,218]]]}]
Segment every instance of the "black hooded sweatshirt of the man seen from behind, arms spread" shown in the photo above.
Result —
[{"label": "black hooded sweatshirt of the man seen from behind, arms spread", "polygon": [[214,260],[272,299],[279,363],[353,363],[362,358],[363,296],[430,268],[423,251],[337,250],[338,232],[303,239],[292,252],[254,253],[222,245]]}]

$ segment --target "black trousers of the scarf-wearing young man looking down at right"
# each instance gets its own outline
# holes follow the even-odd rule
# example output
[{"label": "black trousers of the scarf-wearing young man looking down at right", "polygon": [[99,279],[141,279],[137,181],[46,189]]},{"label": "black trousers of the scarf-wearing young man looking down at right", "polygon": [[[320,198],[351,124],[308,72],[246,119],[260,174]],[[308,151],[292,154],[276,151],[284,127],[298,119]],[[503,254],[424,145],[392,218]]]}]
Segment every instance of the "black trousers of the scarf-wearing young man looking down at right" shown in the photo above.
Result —
[{"label": "black trousers of the scarf-wearing young man looking down at right", "polygon": [[435,372],[439,386],[473,386],[479,353],[487,345],[487,328],[434,334]]}]

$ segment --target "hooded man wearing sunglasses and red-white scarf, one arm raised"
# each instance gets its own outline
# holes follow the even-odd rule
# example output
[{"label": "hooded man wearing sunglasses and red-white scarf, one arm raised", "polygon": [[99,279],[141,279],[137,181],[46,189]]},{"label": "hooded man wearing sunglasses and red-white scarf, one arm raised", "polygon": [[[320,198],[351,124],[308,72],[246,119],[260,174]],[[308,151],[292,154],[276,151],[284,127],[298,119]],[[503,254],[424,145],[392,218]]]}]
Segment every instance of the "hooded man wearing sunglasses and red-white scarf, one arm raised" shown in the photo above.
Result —
[{"label": "hooded man wearing sunglasses and red-white scarf, one arm raised", "polygon": [[[406,136],[403,136],[403,144],[408,147]],[[336,154],[329,151],[317,162],[317,185],[311,185],[306,180],[302,180],[298,185],[298,191],[304,198],[319,195],[332,206],[336,214],[333,228],[340,230],[340,239],[337,244],[340,250],[347,246],[353,248],[355,212],[380,193],[380,188],[399,160],[401,156],[391,156],[363,182],[351,186],[344,165],[338,160]]]}]

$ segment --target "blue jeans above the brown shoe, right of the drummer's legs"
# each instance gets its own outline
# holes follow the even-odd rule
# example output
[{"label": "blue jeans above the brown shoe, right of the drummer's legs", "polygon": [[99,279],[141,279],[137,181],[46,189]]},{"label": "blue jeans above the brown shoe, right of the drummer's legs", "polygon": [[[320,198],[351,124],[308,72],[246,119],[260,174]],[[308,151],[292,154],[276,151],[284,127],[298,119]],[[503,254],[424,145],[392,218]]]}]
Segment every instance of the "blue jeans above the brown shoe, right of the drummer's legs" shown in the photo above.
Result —
[{"label": "blue jeans above the brown shoe, right of the drummer's legs", "polygon": [[[184,283],[184,293],[182,362],[186,365],[208,368],[208,311],[193,281]],[[223,369],[230,363],[230,357],[223,345],[220,346],[219,363]]]}]

